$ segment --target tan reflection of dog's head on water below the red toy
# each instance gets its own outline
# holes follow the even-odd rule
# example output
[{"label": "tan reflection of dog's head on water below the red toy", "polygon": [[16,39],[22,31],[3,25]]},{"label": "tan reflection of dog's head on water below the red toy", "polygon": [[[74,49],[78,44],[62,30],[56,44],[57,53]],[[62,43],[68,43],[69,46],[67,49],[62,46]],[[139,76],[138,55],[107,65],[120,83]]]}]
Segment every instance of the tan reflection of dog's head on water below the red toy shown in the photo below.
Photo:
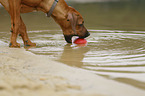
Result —
[{"label": "tan reflection of dog's head on water below the red toy", "polygon": [[89,51],[89,47],[71,47],[70,44],[65,45],[62,55],[58,61],[70,66],[82,67],[85,53]]}]

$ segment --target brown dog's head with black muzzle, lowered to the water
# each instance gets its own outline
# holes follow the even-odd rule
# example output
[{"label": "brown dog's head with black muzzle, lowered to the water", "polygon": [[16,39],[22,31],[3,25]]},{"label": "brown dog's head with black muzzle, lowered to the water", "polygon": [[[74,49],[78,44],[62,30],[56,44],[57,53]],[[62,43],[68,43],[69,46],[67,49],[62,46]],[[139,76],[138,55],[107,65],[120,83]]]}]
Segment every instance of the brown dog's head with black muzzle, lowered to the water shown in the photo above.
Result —
[{"label": "brown dog's head with black muzzle, lowered to the water", "polygon": [[65,19],[57,21],[63,30],[63,35],[68,43],[72,43],[73,36],[86,38],[90,35],[84,26],[84,19],[81,14],[74,8],[69,7],[69,11]]}]

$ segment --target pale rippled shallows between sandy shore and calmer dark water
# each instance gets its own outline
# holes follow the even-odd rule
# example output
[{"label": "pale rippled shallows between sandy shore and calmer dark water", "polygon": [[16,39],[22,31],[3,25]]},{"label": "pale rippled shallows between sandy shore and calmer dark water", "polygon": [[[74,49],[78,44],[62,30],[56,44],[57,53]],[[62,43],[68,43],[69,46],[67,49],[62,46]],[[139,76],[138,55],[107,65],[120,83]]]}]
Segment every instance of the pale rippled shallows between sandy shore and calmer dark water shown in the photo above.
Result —
[{"label": "pale rippled shallows between sandy shore and calmer dark water", "polygon": [[[145,90],[145,32],[89,31],[86,47],[67,44],[60,30],[29,31],[37,43],[29,51]],[[6,38],[2,41],[9,42]]]}]

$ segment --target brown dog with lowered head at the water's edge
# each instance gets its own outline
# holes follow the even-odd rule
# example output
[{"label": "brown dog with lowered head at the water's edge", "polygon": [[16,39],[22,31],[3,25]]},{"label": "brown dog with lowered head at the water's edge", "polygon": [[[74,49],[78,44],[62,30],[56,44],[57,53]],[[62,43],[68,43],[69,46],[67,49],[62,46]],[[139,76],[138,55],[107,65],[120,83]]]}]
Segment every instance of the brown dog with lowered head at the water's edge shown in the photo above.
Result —
[{"label": "brown dog with lowered head at the water's edge", "polygon": [[[58,2],[54,10],[51,10],[54,2]],[[63,35],[68,43],[71,43],[73,36],[85,38],[89,36],[89,32],[84,27],[84,20],[81,14],[74,8],[69,7],[64,0],[0,0],[11,16],[11,39],[10,47],[20,47],[16,42],[17,35],[23,39],[25,46],[35,46],[28,38],[26,26],[21,19],[20,13],[28,13],[32,11],[43,11],[50,13],[51,17],[61,26]],[[54,6],[53,6],[54,7]]]}]

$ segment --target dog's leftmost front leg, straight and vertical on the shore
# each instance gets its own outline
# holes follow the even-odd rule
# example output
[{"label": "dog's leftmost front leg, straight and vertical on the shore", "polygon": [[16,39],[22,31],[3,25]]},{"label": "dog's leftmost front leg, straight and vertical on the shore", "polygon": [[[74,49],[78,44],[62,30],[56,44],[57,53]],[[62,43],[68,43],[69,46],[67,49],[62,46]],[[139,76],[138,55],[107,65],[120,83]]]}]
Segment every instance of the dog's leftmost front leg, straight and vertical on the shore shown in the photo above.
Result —
[{"label": "dog's leftmost front leg, straight and vertical on the shore", "polygon": [[9,0],[9,14],[11,16],[11,39],[10,47],[20,47],[20,44],[16,42],[18,29],[20,26],[20,8],[21,0]]}]

